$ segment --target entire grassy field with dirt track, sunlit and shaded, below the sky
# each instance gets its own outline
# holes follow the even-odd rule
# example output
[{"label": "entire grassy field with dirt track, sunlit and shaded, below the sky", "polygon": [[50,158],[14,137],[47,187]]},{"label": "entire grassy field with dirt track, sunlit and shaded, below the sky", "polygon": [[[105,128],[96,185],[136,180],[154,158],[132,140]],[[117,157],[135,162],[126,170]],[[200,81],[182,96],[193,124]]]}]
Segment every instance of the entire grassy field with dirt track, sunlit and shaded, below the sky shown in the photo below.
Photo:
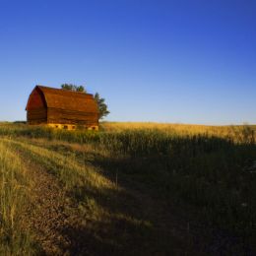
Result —
[{"label": "entire grassy field with dirt track, sunlit and shaded, below the sky", "polygon": [[0,254],[255,255],[256,126],[0,124]]}]

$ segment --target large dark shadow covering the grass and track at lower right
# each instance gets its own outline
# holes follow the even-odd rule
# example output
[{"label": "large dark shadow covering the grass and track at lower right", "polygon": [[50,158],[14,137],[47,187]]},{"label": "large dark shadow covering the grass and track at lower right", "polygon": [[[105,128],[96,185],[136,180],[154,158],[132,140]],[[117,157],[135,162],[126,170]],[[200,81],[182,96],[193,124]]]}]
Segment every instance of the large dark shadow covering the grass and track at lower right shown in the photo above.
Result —
[{"label": "large dark shadow covering the grass and track at lower right", "polygon": [[[85,157],[67,146],[51,149],[90,162],[120,187],[69,189],[90,223],[61,230],[72,241],[72,253],[255,253],[256,177],[248,171],[256,160],[254,144],[201,136],[172,139],[144,152],[124,142],[121,154],[106,147],[107,157],[100,152]],[[97,208],[104,212],[99,220],[88,215]]]}]

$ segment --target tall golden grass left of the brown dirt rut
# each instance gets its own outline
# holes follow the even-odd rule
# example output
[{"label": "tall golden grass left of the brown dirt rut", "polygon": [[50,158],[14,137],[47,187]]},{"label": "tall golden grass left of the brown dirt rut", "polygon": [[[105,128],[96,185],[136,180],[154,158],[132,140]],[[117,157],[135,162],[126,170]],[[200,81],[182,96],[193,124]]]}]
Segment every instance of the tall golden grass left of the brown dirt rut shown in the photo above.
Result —
[{"label": "tall golden grass left of the brown dirt rut", "polygon": [[35,243],[22,214],[30,199],[30,179],[11,144],[0,142],[0,254],[31,255]]}]

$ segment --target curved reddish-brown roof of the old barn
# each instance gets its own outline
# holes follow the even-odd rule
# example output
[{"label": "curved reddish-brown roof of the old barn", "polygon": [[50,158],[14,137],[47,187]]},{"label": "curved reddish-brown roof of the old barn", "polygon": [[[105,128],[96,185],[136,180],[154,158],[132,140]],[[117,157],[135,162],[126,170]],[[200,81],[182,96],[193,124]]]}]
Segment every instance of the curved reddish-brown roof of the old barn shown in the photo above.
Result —
[{"label": "curved reddish-brown roof of the old barn", "polygon": [[43,86],[36,86],[33,90],[39,91],[44,96],[48,108],[98,112],[96,100],[93,95]]}]

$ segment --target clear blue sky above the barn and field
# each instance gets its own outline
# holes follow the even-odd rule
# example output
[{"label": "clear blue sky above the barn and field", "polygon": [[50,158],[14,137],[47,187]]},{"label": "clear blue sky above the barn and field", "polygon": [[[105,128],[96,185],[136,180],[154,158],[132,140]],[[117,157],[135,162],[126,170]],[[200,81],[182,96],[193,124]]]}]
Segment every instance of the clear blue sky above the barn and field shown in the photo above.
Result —
[{"label": "clear blue sky above the barn and field", "polygon": [[256,123],[256,1],[0,0],[0,120],[62,83],[107,120]]}]

